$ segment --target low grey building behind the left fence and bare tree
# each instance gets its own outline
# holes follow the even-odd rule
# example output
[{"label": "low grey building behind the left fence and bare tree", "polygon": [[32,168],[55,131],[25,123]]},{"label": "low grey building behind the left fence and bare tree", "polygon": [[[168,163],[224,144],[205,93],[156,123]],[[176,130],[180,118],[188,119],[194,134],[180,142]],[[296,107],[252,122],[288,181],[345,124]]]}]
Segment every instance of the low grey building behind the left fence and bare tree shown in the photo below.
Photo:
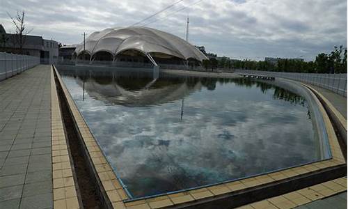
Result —
[{"label": "low grey building behind the left fence and bare tree", "polygon": [[[18,36],[13,33],[6,33],[0,24],[0,52],[19,54]],[[41,63],[52,64],[58,59],[58,42],[46,40],[41,36],[25,35],[23,54],[40,57]]]}]

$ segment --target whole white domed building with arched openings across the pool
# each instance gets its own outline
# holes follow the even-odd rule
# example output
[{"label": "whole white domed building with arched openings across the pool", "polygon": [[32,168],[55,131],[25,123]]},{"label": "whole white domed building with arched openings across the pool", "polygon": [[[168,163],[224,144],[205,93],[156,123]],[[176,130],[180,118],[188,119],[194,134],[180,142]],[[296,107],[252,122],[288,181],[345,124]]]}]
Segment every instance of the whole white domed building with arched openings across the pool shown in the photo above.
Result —
[{"label": "whole white domed building with arched openings across the pool", "polygon": [[77,61],[199,64],[207,56],[189,42],[171,33],[141,26],[104,29],[90,34],[77,45]]}]

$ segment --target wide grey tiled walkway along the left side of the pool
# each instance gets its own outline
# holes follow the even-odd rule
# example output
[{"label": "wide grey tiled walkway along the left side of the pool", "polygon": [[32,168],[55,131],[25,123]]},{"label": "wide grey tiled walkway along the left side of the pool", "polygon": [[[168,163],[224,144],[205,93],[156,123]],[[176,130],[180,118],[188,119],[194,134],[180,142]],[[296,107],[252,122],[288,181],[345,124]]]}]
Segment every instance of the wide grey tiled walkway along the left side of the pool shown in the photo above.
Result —
[{"label": "wide grey tiled walkway along the left side of the pool", "polygon": [[0,208],[52,208],[50,65],[0,82]]}]

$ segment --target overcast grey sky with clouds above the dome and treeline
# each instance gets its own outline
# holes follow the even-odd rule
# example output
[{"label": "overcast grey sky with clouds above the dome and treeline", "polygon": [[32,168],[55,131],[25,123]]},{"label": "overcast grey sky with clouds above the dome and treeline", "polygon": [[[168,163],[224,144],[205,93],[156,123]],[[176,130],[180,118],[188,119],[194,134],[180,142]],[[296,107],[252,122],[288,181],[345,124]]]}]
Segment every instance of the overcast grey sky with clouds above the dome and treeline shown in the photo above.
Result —
[{"label": "overcast grey sky with clouds above the dome and treeline", "polygon": [[[311,60],[319,52],[330,52],[334,45],[347,46],[346,0],[198,1],[180,1],[143,24],[152,22],[147,26],[184,38],[189,16],[191,44],[233,59],[277,56]],[[25,10],[32,35],[63,44],[78,43],[84,31],[90,34],[107,27],[130,26],[174,2],[0,0],[0,23],[13,32],[7,13]]]}]

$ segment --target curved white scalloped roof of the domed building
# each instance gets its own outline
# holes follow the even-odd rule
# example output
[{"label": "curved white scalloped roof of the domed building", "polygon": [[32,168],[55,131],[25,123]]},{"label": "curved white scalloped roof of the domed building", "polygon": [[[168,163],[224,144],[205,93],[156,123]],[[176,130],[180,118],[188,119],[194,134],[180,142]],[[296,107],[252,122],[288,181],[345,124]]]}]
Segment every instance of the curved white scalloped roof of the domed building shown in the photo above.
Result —
[{"label": "curved white scalloped roof of the domed building", "polygon": [[[189,42],[164,31],[148,27],[131,26],[126,28],[104,29],[86,38],[86,52],[93,56],[97,52],[110,52],[113,56],[134,49],[144,54],[163,53],[181,59],[202,61],[207,56]],[[77,45],[77,55],[84,51],[84,43]]]}]

